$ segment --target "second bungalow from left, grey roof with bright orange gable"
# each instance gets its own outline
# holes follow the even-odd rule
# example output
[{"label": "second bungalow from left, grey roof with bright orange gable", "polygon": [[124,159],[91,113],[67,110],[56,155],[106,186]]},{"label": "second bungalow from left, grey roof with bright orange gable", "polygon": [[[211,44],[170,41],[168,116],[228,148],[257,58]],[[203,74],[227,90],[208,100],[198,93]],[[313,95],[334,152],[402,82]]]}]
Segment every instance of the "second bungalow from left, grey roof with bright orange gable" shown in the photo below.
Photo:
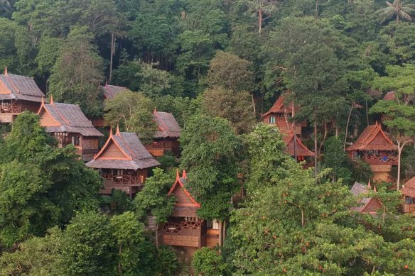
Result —
[{"label": "second bungalow from left, grey roof with bright orange gable", "polygon": [[103,135],[92,126],[79,106],[55,103],[50,97],[49,104],[42,100],[38,114],[41,126],[58,140],[60,147],[72,144],[84,161],[92,160],[98,152],[98,138]]}]

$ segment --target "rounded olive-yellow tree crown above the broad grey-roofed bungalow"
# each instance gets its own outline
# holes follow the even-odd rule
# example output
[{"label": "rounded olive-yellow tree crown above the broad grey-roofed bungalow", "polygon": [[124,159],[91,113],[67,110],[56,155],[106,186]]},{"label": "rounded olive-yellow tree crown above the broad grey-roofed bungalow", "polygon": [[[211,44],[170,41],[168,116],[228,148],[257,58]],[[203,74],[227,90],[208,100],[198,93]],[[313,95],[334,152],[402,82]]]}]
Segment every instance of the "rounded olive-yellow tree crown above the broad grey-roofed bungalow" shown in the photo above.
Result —
[{"label": "rounded olive-yellow tree crown above the broad grey-roofed bungalow", "polygon": [[153,121],[153,103],[144,94],[125,91],[105,101],[105,122],[123,131],[135,132],[146,143],[153,138],[156,124]]}]

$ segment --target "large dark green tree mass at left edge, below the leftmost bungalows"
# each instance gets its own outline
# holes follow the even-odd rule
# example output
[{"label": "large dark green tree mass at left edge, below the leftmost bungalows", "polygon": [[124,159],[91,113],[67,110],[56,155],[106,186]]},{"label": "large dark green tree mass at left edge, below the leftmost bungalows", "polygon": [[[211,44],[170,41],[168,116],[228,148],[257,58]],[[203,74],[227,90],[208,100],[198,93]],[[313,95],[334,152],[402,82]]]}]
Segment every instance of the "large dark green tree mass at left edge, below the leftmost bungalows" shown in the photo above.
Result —
[{"label": "large dark green tree mass at left edge, below the leftmost bungalows", "polygon": [[82,209],[97,207],[102,179],[85,167],[75,149],[54,148],[38,116],[23,112],[2,143],[0,242],[11,247],[63,225]]}]

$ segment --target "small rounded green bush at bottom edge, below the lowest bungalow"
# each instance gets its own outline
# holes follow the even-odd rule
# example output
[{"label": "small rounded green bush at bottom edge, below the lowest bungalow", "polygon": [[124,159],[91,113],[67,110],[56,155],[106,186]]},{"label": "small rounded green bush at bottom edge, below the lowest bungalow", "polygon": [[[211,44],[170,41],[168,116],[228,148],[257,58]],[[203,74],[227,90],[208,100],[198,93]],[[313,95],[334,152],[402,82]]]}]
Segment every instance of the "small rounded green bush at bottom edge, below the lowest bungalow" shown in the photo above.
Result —
[{"label": "small rounded green bush at bottom edge, below the lowest bungalow", "polygon": [[193,255],[192,267],[195,275],[219,276],[227,269],[226,263],[217,252],[210,248],[200,248]]}]

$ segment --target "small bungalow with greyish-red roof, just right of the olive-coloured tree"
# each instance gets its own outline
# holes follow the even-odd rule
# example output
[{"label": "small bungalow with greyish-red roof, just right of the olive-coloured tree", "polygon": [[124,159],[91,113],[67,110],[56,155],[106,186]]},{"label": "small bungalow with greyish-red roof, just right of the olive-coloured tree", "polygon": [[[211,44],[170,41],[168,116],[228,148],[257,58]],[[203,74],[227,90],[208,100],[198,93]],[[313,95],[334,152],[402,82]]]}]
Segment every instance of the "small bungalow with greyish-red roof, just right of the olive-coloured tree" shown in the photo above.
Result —
[{"label": "small bungalow with greyish-red roof, just right of the olive-coloured tree", "polygon": [[146,145],[149,153],[154,157],[163,156],[166,151],[171,151],[174,155],[178,155],[180,126],[176,118],[171,113],[156,111],[156,109],[154,109],[153,118],[157,131],[154,133],[153,142]]}]

